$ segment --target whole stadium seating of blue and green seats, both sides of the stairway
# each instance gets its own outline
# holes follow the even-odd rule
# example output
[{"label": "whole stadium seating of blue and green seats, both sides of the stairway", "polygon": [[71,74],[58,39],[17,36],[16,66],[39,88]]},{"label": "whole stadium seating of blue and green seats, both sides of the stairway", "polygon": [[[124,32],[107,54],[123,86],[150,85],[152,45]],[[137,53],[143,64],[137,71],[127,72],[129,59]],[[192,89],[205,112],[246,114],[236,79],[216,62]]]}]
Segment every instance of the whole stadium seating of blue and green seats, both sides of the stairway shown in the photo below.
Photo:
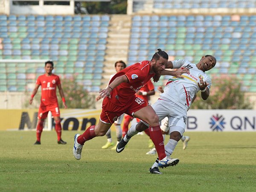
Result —
[{"label": "whole stadium seating of blue and green seats, both sides of the stairway", "polygon": [[[153,9],[256,8],[253,0],[151,0]],[[138,9],[148,5],[134,1]],[[136,12],[136,11],[135,11]],[[105,84],[113,15],[0,15],[0,60],[55,61],[61,77],[76,76],[84,89],[98,91]],[[197,62],[202,55],[217,58],[210,76],[230,74],[243,81],[242,89],[256,92],[256,15],[220,14],[137,14],[131,18],[128,38],[128,65],[166,50],[170,59],[186,58]],[[120,16],[119,16],[120,18]],[[120,30],[120,29],[119,29]],[[113,37],[112,37],[113,38]],[[116,41],[114,37],[113,41]],[[125,47],[125,46],[124,46]],[[126,48],[125,48],[126,49]],[[116,58],[114,58],[116,61]],[[42,64],[0,62],[0,91],[26,90],[28,83],[44,72]],[[166,81],[161,77],[156,85]],[[157,86],[156,86],[157,87]]]}]

